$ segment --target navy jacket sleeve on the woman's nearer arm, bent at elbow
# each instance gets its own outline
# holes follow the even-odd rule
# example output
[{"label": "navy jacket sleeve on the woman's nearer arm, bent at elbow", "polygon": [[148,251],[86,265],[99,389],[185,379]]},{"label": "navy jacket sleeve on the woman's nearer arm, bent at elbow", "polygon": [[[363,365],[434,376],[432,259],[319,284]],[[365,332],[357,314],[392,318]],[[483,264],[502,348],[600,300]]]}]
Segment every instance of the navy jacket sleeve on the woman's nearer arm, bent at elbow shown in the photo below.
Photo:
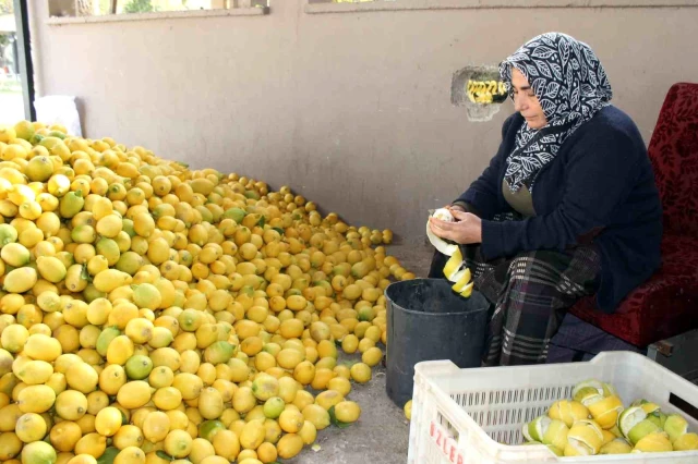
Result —
[{"label": "navy jacket sleeve on the woman's nearer arm, bent at elbow", "polygon": [[[557,207],[521,221],[482,221],[485,258],[534,249],[565,249],[604,227],[628,197],[638,175],[637,147],[625,134],[585,134],[571,148]],[[561,180],[563,182],[563,180]]]}]

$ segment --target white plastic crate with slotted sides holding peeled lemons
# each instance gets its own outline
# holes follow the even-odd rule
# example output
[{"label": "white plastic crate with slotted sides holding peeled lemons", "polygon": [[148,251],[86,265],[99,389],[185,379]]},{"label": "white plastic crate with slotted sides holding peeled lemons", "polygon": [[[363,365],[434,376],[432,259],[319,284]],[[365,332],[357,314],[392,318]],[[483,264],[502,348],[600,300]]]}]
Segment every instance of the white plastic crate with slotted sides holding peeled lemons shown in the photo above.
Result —
[{"label": "white plastic crate with slotted sides holding peeled lemons", "polygon": [[414,367],[408,464],[698,464],[698,451],[557,457],[544,445],[520,445],[525,423],[592,378],[611,382],[626,407],[637,399],[652,401],[667,414],[683,414],[698,432],[698,419],[690,415],[698,407],[698,387],[636,353],[605,352],[589,363],[476,369],[435,361]]}]

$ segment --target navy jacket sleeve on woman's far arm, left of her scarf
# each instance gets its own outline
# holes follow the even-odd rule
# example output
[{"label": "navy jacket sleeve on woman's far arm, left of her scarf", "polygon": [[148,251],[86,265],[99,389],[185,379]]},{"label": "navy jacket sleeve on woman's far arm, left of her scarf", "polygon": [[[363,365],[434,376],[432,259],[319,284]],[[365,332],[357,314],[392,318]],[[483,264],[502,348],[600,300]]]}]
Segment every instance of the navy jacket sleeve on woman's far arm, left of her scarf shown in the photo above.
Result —
[{"label": "navy jacket sleeve on woman's far arm, left of her scarf", "polygon": [[477,216],[483,219],[492,219],[496,213],[502,212],[500,206],[500,190],[502,190],[500,173],[502,172],[502,163],[508,155],[503,152],[503,145],[515,117],[516,114],[509,117],[504,122],[502,126],[502,144],[500,145],[497,154],[490,160],[490,166],[488,166],[484,172],[470,184],[468,190],[454,202],[454,204],[469,205],[472,210],[466,210],[477,213]]}]

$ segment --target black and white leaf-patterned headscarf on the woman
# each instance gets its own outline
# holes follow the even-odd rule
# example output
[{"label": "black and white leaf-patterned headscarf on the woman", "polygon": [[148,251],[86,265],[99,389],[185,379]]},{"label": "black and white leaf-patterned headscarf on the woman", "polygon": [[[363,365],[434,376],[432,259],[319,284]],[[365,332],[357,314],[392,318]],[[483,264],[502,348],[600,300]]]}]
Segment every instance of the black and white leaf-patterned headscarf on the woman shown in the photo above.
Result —
[{"label": "black and white leaf-patterned headscarf on the woman", "polygon": [[543,108],[547,125],[522,124],[507,158],[505,180],[512,192],[532,188],[538,172],[581,124],[606,107],[613,91],[591,48],[561,33],[534,37],[500,64],[500,75],[514,99],[512,66],[526,76]]}]

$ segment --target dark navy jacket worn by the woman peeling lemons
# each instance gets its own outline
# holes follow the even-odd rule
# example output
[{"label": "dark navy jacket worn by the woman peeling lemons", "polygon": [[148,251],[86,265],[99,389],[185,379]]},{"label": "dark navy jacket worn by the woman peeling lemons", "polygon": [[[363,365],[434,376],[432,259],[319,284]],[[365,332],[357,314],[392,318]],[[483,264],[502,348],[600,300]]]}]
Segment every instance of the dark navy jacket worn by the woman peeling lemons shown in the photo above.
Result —
[{"label": "dark navy jacket worn by the woman peeling lemons", "polygon": [[565,249],[593,239],[602,259],[597,303],[614,313],[618,303],[660,266],[662,207],[642,137],[630,118],[609,106],[577,129],[533,184],[535,217],[492,221],[513,211],[502,195],[506,158],[525,123],[509,117],[502,144],[482,175],[456,200],[482,218],[486,259],[534,249]]}]

